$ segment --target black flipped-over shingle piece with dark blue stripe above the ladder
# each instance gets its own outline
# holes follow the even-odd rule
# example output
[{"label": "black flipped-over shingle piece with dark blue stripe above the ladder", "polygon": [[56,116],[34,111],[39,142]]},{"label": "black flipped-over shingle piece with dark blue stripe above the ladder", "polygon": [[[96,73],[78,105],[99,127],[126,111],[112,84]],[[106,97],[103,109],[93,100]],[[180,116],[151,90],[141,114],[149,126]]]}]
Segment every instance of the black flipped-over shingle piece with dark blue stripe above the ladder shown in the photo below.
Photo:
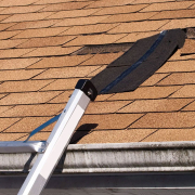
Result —
[{"label": "black flipped-over shingle piece with dark blue stripe above the ladder", "polygon": [[181,29],[141,39],[91,81],[99,94],[133,91],[182,48],[184,41],[185,32]]}]

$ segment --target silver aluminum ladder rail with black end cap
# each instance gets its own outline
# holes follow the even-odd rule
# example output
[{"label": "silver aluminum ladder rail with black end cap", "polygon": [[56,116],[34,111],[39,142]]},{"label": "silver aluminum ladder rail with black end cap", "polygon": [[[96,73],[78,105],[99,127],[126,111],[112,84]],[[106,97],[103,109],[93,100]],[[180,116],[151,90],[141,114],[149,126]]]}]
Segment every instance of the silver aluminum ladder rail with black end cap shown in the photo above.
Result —
[{"label": "silver aluminum ladder rail with black end cap", "polygon": [[[88,86],[88,82],[87,84],[84,82],[83,86]],[[90,86],[81,89],[77,89],[76,86],[74,93],[47,140],[48,146],[38,155],[17,195],[39,195],[42,192],[66,150],[87,106],[93,100],[90,99],[92,91],[93,89]],[[88,92],[90,92],[89,95]]]}]

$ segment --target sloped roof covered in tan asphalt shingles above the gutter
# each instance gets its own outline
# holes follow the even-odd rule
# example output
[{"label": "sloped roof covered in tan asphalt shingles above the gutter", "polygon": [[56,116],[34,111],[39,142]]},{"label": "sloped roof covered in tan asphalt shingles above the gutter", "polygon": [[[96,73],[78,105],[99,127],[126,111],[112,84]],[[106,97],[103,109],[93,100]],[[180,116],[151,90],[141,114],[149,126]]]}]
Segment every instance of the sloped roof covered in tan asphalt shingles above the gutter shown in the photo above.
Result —
[{"label": "sloped roof covered in tan asphalt shingles above the gutter", "polygon": [[[194,9],[193,0],[1,0],[0,141],[25,140],[61,113],[78,79],[125,52],[108,47],[80,55],[84,46],[123,46],[194,27]],[[195,40],[187,31],[184,47],[136,90],[99,95],[72,143],[195,140]],[[31,140],[46,140],[52,128]]]}]

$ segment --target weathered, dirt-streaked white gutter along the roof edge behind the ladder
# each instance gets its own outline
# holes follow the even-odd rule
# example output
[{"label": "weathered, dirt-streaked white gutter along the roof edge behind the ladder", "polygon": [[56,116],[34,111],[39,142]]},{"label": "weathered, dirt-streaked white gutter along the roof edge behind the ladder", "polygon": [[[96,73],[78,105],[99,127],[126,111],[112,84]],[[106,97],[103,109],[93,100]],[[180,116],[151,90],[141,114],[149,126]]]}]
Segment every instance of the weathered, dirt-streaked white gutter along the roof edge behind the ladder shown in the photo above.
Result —
[{"label": "weathered, dirt-streaked white gutter along the roof edge behind the ladder", "polygon": [[[37,153],[0,154],[1,173],[28,172]],[[57,173],[182,172],[195,170],[195,142],[72,144]]]}]

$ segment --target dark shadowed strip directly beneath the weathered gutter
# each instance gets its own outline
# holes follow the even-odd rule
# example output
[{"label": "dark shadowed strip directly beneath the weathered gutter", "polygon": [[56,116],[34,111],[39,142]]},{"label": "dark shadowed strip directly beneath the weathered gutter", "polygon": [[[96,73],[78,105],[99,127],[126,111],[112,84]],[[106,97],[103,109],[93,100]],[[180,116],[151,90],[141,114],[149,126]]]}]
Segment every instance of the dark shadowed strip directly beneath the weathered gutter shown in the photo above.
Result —
[{"label": "dark shadowed strip directly beneath the weathered gutter", "polygon": [[[26,176],[1,176],[0,190],[20,190]],[[143,173],[80,173],[53,174],[48,190],[92,187],[193,187],[194,172],[143,172]],[[44,191],[43,191],[44,192]]]}]

